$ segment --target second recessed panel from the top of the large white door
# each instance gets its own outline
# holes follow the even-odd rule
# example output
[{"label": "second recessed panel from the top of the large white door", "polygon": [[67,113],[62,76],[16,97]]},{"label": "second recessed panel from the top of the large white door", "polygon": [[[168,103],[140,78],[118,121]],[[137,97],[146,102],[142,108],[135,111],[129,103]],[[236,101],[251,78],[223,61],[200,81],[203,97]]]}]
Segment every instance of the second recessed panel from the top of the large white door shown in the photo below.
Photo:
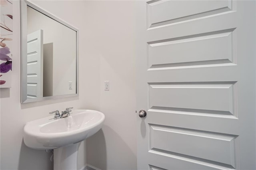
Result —
[{"label": "second recessed panel from the top of the large white door", "polygon": [[[149,68],[174,69],[179,66],[232,63],[233,31],[234,29],[223,30],[150,42],[148,43]],[[190,57],[191,55],[194,57]]]}]

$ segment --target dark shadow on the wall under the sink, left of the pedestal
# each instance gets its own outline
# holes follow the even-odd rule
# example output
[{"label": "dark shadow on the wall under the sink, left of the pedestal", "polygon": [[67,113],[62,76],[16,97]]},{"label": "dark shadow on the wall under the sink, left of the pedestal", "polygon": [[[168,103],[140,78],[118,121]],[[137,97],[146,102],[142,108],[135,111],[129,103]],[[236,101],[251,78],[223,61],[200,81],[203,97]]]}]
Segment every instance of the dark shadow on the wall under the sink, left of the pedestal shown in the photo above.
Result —
[{"label": "dark shadow on the wall under the sink, left of the pedestal", "polygon": [[51,156],[52,153],[46,153],[45,150],[36,150],[28,148],[22,140],[18,169],[53,170],[53,162],[50,161]]}]

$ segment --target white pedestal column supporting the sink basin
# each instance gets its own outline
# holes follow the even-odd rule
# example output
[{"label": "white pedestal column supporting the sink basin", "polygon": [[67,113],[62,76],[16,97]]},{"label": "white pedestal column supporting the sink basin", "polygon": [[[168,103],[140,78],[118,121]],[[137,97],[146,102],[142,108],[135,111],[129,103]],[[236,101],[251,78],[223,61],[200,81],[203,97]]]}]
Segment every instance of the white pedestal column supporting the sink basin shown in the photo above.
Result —
[{"label": "white pedestal column supporting the sink basin", "polygon": [[77,170],[78,148],[81,142],[53,150],[54,170]]}]

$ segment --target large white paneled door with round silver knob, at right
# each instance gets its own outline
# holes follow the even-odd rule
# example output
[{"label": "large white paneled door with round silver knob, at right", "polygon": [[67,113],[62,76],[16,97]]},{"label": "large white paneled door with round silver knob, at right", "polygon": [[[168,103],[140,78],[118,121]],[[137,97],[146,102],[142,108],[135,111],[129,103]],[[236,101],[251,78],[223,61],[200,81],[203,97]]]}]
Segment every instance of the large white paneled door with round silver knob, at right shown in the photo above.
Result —
[{"label": "large white paneled door with round silver knob, at right", "polygon": [[138,170],[255,170],[256,1],[142,3]]}]

